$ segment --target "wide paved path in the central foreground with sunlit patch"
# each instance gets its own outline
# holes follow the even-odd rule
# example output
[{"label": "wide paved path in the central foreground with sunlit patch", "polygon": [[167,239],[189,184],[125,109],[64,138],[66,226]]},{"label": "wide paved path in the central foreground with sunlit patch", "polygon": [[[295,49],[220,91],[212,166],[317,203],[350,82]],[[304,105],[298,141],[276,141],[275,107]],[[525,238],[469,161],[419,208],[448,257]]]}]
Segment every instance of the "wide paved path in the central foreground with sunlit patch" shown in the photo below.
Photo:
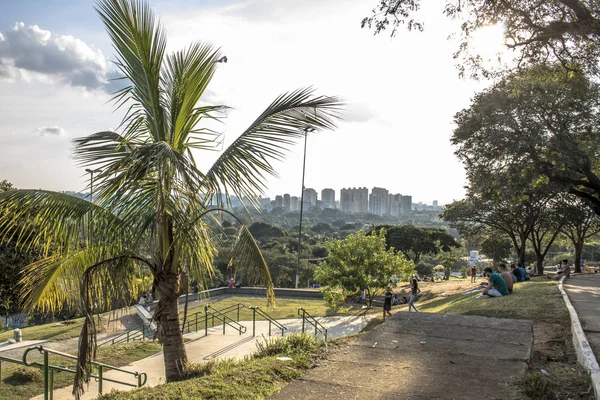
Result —
[{"label": "wide paved path in the central foreground with sunlit patch", "polygon": [[274,400],[517,399],[532,321],[400,312]]}]

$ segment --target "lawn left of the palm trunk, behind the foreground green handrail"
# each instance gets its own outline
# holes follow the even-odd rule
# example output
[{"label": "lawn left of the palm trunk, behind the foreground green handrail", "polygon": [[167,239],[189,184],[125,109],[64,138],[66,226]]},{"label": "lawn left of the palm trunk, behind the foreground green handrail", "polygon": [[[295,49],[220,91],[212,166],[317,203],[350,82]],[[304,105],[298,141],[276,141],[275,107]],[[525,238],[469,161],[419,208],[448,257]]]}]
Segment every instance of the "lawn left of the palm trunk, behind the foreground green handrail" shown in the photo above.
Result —
[{"label": "lawn left of the palm trunk, behind the foreground green handrail", "polygon": [[[156,354],[161,350],[161,345],[146,341],[116,344],[100,347],[96,360],[115,367],[121,367]],[[75,360],[50,356],[50,364],[72,368],[75,365]],[[55,372],[54,387],[60,388],[72,385],[73,377],[74,375],[71,373]],[[90,384],[94,385],[95,382]],[[2,363],[0,400],[28,399],[42,393],[44,393],[44,382],[41,370],[7,362]]]}]

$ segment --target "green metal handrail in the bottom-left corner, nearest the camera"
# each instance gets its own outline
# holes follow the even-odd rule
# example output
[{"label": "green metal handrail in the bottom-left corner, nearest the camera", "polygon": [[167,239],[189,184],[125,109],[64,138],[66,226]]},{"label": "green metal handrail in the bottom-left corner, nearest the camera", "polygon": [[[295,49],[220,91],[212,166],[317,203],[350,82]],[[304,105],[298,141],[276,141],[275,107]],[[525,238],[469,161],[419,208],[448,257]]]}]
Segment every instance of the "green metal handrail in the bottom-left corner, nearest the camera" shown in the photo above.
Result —
[{"label": "green metal handrail in the bottom-left corner, nearest the camera", "polygon": [[[34,362],[27,361],[27,355],[32,350],[38,350],[40,353],[44,354],[44,362],[43,363],[39,363],[36,361],[34,361]],[[23,362],[22,362],[23,365],[26,365],[28,367],[40,368],[43,371],[43,374],[44,374],[44,400],[52,400],[53,392],[54,392],[54,371],[64,371],[64,372],[70,372],[73,374],[76,373],[76,371],[73,369],[49,364],[49,362],[48,362],[49,354],[54,354],[57,356],[70,358],[72,360],[77,360],[77,357],[75,357],[74,355],[63,353],[61,351],[47,349],[47,348],[44,348],[44,346],[33,346],[33,347],[29,347],[25,350],[25,352],[23,353]],[[126,385],[126,386],[130,386],[130,387],[138,387],[139,388],[139,387],[144,386],[146,384],[146,381],[148,380],[148,376],[146,375],[145,372],[138,372],[138,371],[131,372],[131,371],[124,370],[122,368],[114,367],[112,365],[104,364],[104,363],[97,362],[97,361],[89,361],[89,363],[90,363],[90,365],[93,365],[98,369],[98,373],[90,374],[90,377],[95,378],[98,381],[98,393],[99,394],[102,394],[103,381],[113,382],[113,383],[118,383],[120,385]],[[110,379],[110,378],[104,378],[103,373],[107,369],[112,369],[114,371],[119,371],[119,372],[122,372],[125,374],[133,375],[134,377],[137,378],[137,382],[136,383],[128,383],[128,382],[117,381],[117,380]],[[143,378],[143,380],[142,380],[142,378]]]}]

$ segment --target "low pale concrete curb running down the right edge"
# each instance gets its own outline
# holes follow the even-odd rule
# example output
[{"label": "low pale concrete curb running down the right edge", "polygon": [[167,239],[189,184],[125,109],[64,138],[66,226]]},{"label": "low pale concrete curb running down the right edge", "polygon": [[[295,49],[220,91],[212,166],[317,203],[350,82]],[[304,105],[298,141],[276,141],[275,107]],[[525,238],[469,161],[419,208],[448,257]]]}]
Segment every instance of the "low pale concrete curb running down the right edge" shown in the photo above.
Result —
[{"label": "low pale concrete curb running down the right edge", "polygon": [[589,372],[596,399],[600,399],[600,366],[598,366],[598,360],[596,360],[596,356],[585,337],[577,311],[575,311],[571,300],[569,300],[569,295],[563,288],[564,280],[564,277],[560,280],[558,288],[571,316],[571,332],[573,333],[573,346],[575,346],[577,352],[577,361]]}]

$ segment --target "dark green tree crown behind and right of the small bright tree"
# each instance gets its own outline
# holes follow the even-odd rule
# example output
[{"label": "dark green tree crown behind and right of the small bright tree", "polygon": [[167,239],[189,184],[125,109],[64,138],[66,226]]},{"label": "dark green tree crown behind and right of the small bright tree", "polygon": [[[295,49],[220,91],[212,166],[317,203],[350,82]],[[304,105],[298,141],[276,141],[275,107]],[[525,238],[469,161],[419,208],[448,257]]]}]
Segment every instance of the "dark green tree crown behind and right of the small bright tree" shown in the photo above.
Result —
[{"label": "dark green tree crown behind and right of the small bright tree", "polygon": [[422,254],[437,255],[443,251],[460,247],[456,239],[444,229],[420,228],[413,225],[379,225],[371,232],[385,231],[388,248],[401,252],[419,263]]}]

